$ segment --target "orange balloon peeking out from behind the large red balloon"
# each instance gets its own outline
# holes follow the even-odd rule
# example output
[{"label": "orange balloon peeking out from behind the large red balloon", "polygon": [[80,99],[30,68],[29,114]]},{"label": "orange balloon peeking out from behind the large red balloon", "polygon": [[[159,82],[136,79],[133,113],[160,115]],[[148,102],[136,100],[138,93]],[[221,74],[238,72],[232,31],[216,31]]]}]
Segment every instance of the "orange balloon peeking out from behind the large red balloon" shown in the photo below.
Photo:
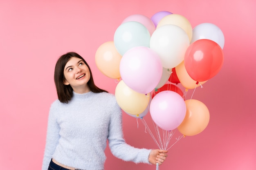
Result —
[{"label": "orange balloon peeking out from behind the large red balloon", "polygon": [[179,65],[177,65],[175,67],[175,71],[176,71],[176,75],[177,75],[178,79],[180,80],[180,84],[182,84],[182,86],[184,86],[187,89],[196,88],[196,87],[204,84],[205,82],[207,82],[207,80],[206,80],[204,82],[198,82],[198,84],[196,84],[197,82],[195,80],[193,80],[189,76],[189,73],[186,71],[184,61],[182,61]]}]

